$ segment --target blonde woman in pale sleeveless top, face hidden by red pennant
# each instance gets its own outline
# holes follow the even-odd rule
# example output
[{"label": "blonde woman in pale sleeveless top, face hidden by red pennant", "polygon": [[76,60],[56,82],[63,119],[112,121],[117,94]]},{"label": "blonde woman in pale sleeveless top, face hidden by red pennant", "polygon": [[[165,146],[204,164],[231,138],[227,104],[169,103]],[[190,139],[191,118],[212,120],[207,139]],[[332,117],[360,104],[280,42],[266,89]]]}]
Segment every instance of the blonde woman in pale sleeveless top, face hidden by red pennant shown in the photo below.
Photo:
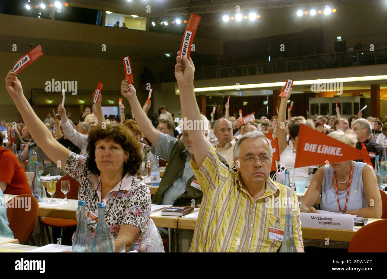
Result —
[{"label": "blonde woman in pale sleeveless top, face hidden by red pennant", "polygon": [[[331,138],[355,147],[351,131],[334,131]],[[375,172],[362,162],[345,161],[320,167],[303,196],[301,212],[318,213],[313,205],[321,195],[322,210],[358,215],[365,218],[382,216],[382,200]]]}]

